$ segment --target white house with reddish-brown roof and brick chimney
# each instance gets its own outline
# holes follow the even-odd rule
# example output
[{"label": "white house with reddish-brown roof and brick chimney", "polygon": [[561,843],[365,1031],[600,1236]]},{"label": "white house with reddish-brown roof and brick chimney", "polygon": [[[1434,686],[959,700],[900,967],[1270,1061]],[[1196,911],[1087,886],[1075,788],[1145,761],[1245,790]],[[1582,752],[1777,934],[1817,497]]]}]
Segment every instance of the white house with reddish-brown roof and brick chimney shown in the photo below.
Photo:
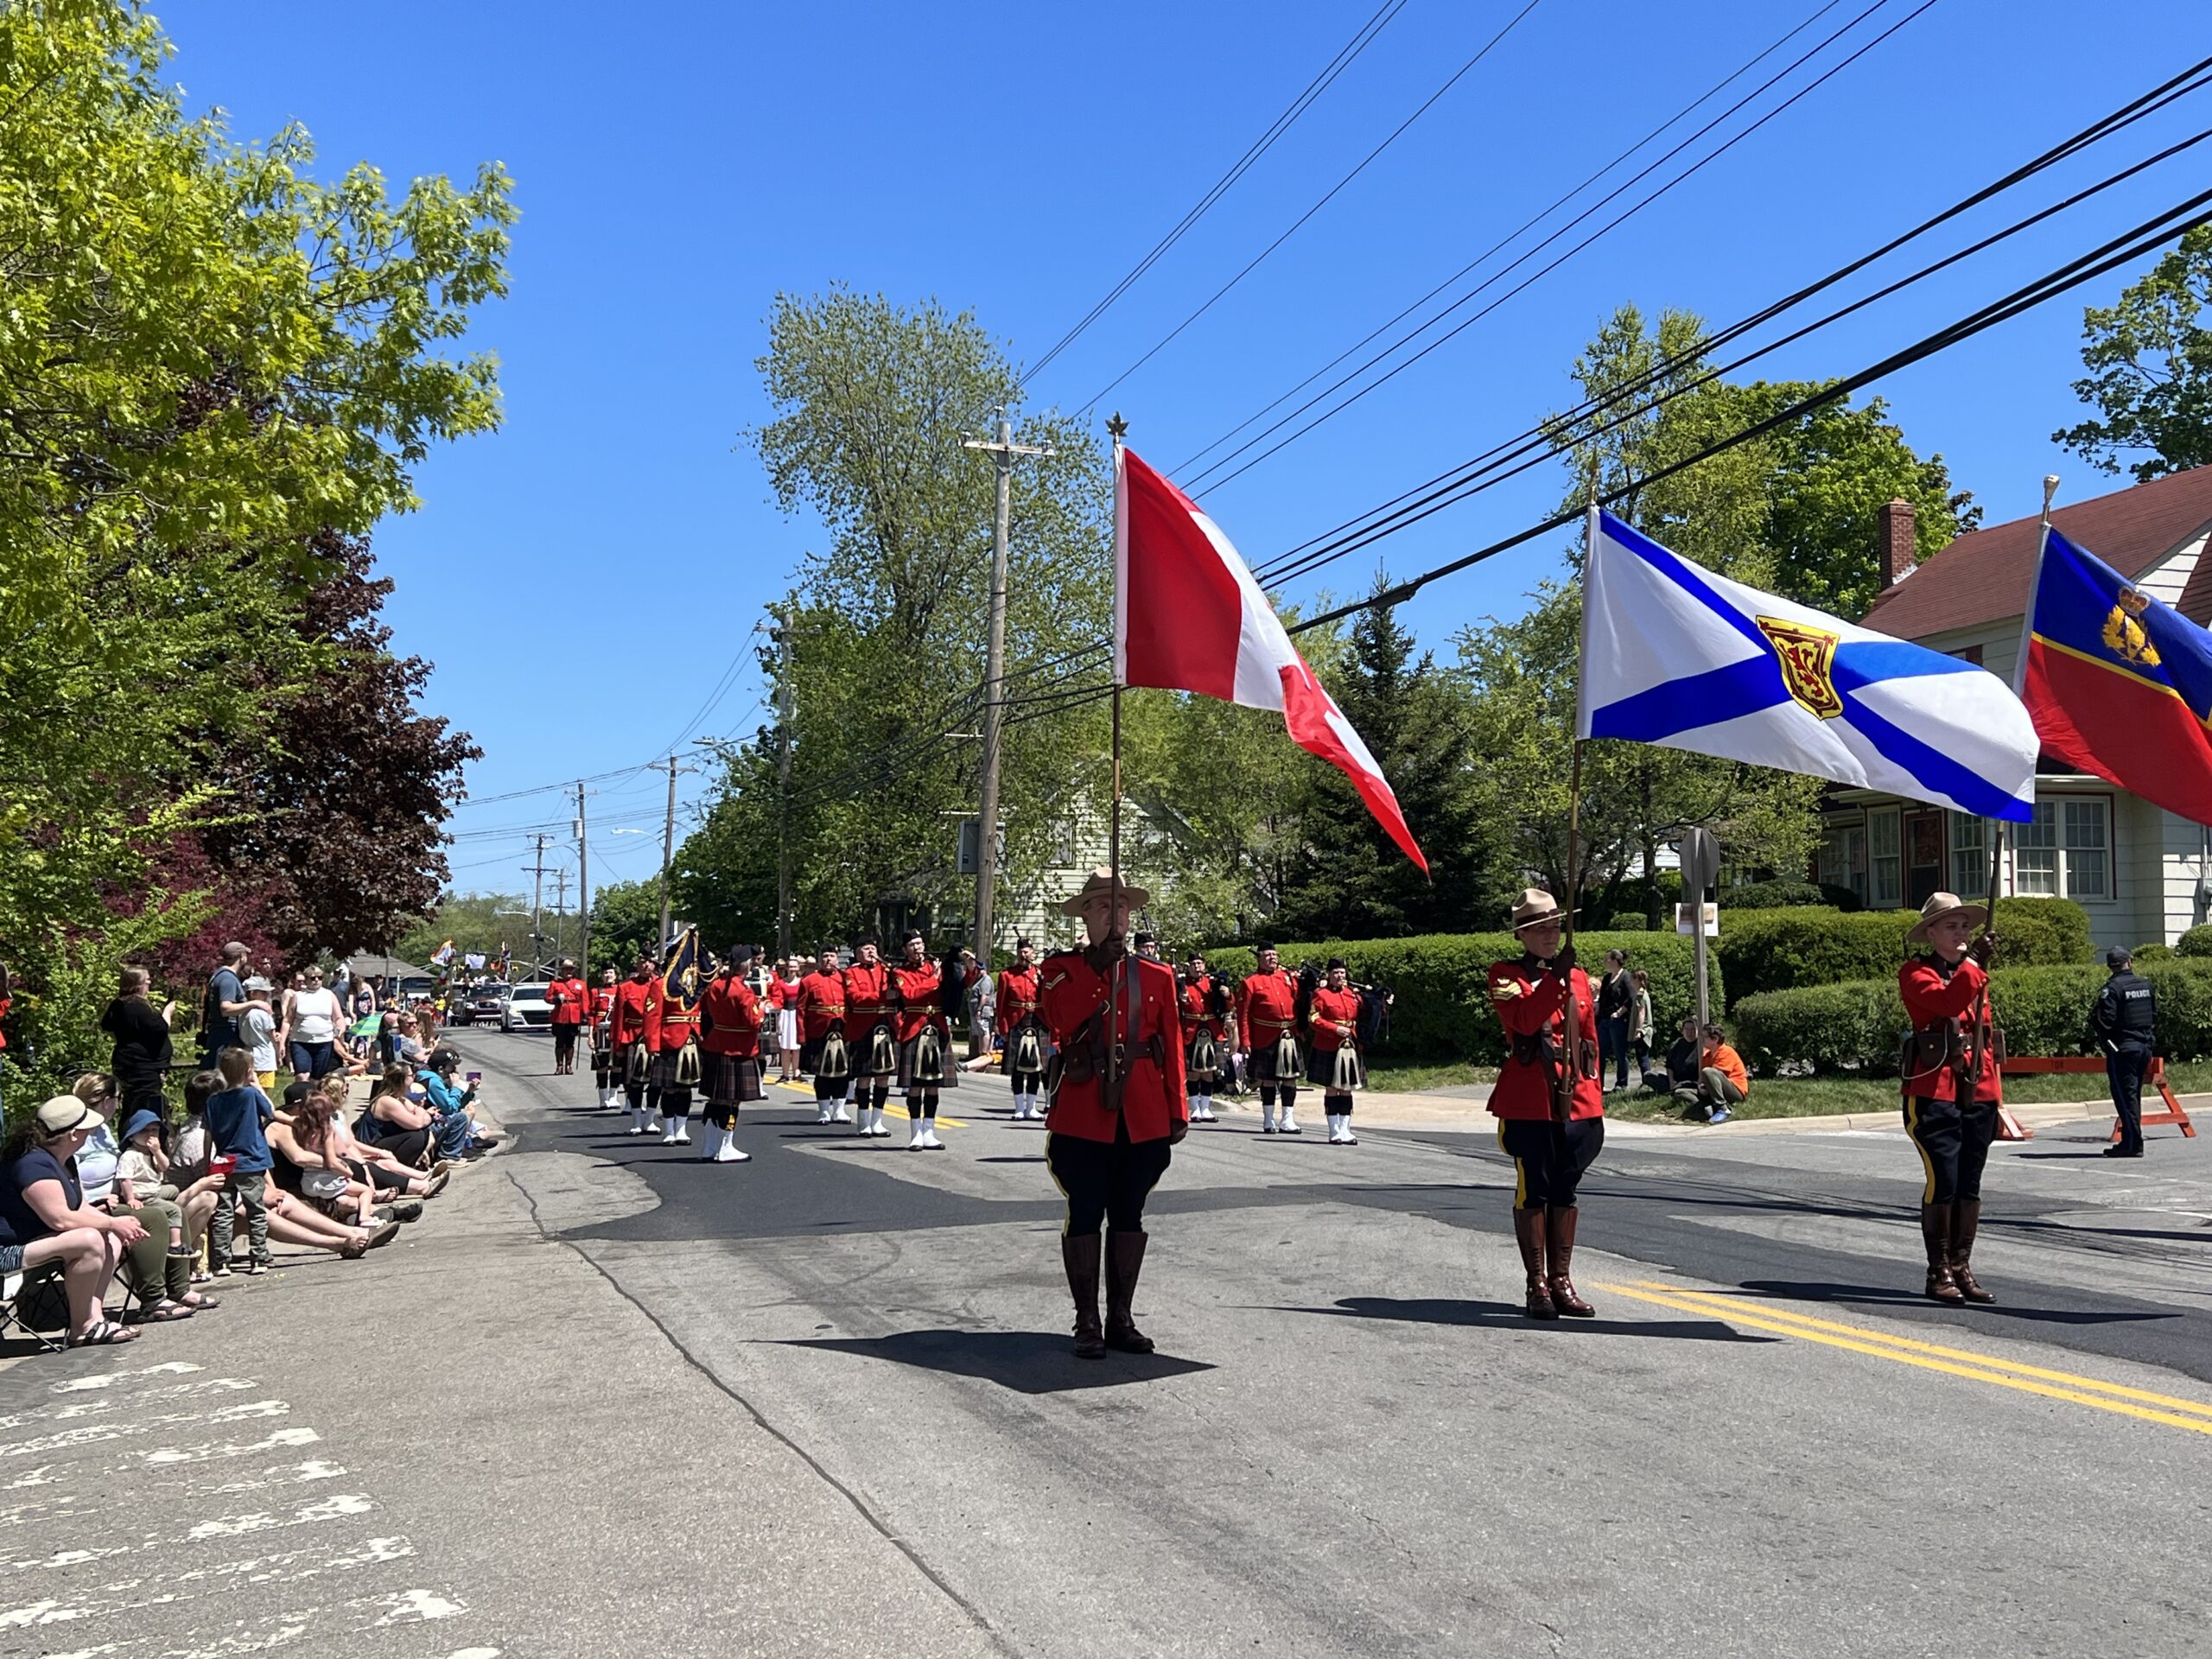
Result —
[{"label": "white house with reddish-brown roof and brick chimney", "polygon": [[[2212,622],[2212,467],[2062,507],[2051,522],[2192,622]],[[1920,566],[1913,509],[1882,509],[1889,580],[1865,622],[2011,681],[2020,622],[2042,544],[2039,520],[1971,531]],[[1854,889],[1871,909],[1913,907],[1949,887],[1989,891],[1986,823],[1874,790],[1834,790],[1816,878]],[[2212,830],[2150,805],[2099,776],[2044,761],[2035,823],[2013,825],[2002,891],[2077,900],[2097,945],[2174,942],[2208,920]]]}]

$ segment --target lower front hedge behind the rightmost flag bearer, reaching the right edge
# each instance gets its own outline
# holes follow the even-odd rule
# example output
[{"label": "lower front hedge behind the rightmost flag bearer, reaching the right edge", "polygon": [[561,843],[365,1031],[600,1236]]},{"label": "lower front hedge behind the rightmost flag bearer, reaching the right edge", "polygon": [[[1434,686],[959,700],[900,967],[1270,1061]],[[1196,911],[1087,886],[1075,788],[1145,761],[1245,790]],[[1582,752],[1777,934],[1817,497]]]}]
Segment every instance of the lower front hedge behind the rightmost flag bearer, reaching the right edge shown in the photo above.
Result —
[{"label": "lower front hedge behind the rightmost flag bearer, reaching the right edge", "polygon": [[[2212,962],[2146,962],[2143,978],[2159,991],[2159,1053],[2212,1055]],[[1991,995],[2006,1053],[2090,1053],[2088,1009],[2104,980],[2106,971],[2093,964],[1997,969]],[[1893,1077],[1905,1004],[1891,975],[1747,995],[1736,1002],[1734,1022],[1736,1048],[1763,1075],[1807,1064]]]}]

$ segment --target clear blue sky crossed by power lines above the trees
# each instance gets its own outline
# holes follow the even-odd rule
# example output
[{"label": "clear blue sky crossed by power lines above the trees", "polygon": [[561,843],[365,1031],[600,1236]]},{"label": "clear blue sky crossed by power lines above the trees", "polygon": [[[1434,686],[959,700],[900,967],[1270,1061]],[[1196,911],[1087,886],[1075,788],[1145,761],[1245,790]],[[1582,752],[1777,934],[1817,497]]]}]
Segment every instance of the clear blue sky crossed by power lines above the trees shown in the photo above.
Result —
[{"label": "clear blue sky crossed by power lines above the trees", "polygon": [[[1659,148],[1871,2],[1829,9]],[[1250,175],[1048,365],[1031,387],[1033,407],[1082,407],[1522,4],[1411,0]],[[1887,0],[1683,159],[1916,4]],[[394,181],[465,177],[493,157],[515,175],[513,294],[471,341],[502,361],[507,425],[440,451],[420,471],[422,511],[376,538],[383,571],[398,582],[389,604],[398,644],[436,664],[431,708],[487,750],[471,776],[478,801],[456,818],[456,885],[513,891],[524,832],[546,825],[566,836],[557,796],[484,796],[666,752],[743,650],[761,602],[818,544],[816,526],[776,513],[741,436],[765,414],[754,358],[779,290],[843,281],[900,303],[936,296],[973,310],[1015,358],[1035,358],[1374,9],[1376,0],[1130,0],[1018,13],[679,0],[615,13],[566,0],[157,4],[188,102],[223,106],[243,137],[301,122],[332,175],[369,159]],[[1119,407],[1130,445],[1177,469],[1816,9],[1818,0],[1540,0],[1252,276],[1124,380],[1099,418]],[[1615,305],[1732,321],[2205,55],[2208,38],[2201,0],[2124,11],[1938,0],[1385,389],[1208,489],[1206,507],[1261,564],[1564,407],[1566,369]],[[2132,161],[2194,131],[2203,102],[2055,177],[2086,184],[2110,170],[2106,155]],[[1776,378],[1858,369],[2192,195],[2201,155],[1781,352],[1765,369]],[[2057,195],[2046,186],[2033,201]],[[1971,226],[2011,217],[1984,212]],[[2064,473],[2062,500],[2115,487],[2062,456],[2048,434],[2079,418],[2068,387],[2079,374],[2081,305],[2108,301],[2121,283],[2124,274],[2108,276],[1880,387],[1907,438],[1944,453],[1989,522],[2033,513],[2046,471]],[[1294,597],[1310,604],[1329,584],[1365,588],[1376,560],[1396,575],[1427,568],[1542,518],[1559,493],[1562,478],[1540,471],[1347,560]],[[1442,648],[1471,619],[1515,613],[1555,562],[1557,546],[1493,560],[1431,586],[1409,622]],[[763,719],[761,695],[748,666],[699,730],[750,730]],[[684,799],[697,799],[701,779],[681,783]],[[653,874],[664,779],[595,787],[595,885]]]}]

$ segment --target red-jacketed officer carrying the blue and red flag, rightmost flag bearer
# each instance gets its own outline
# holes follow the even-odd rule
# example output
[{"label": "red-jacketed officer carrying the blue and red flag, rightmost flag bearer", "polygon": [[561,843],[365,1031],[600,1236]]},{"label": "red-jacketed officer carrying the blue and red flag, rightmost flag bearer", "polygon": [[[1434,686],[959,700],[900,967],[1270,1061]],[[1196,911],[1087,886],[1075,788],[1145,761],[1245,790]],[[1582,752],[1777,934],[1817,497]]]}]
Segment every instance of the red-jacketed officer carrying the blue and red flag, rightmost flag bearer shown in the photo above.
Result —
[{"label": "red-jacketed officer carrying the blue and red flag, rightmost flag bearer", "polygon": [[1905,1040],[1905,1133],[1920,1148],[1920,1243],[1924,1294],[1938,1303],[1993,1303],[1973,1276],[1982,1225],[1982,1166],[2004,1104],[2004,1035],[1989,1006],[1989,960],[1997,936],[1989,911],[1958,894],[1931,894],[1907,945],[1927,945],[1898,969],[1898,995],[1913,1033]]}]

